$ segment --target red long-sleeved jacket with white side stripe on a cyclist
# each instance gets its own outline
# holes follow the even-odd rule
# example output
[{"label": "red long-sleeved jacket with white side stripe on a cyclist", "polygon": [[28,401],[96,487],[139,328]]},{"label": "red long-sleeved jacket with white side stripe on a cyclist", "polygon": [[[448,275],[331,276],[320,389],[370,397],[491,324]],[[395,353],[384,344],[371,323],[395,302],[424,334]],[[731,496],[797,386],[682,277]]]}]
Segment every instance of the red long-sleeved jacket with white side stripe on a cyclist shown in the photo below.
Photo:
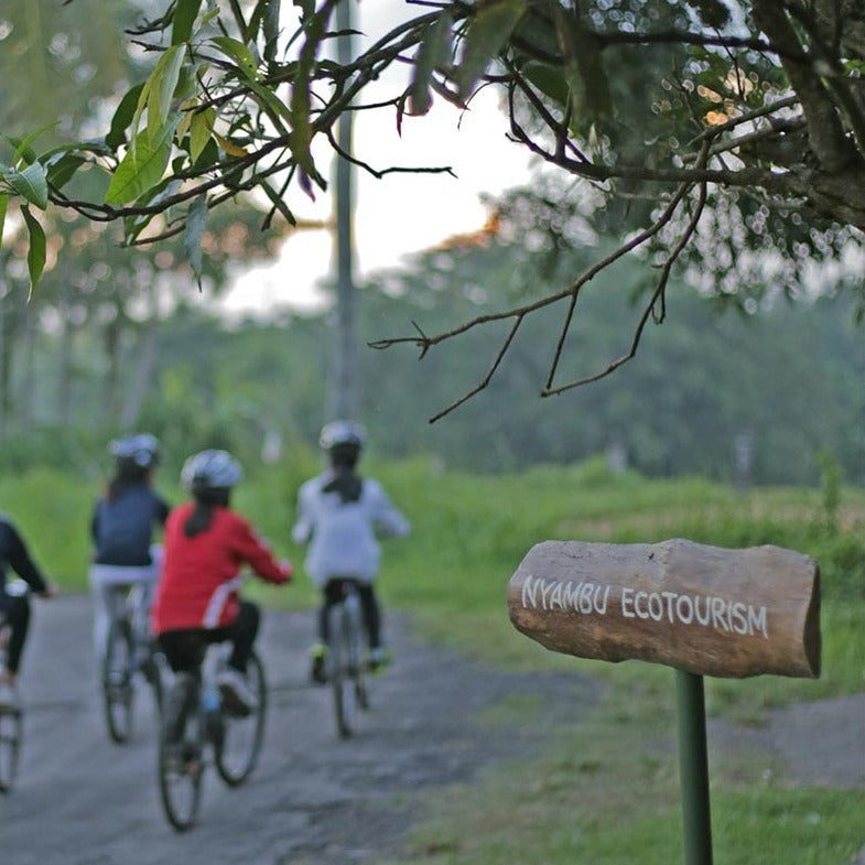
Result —
[{"label": "red long-sleeved jacket with white side stripe on a cyclist", "polygon": [[291,565],[280,564],[252,527],[228,508],[215,508],[209,528],[187,538],[183,527],[194,507],[187,501],[165,520],[162,575],[152,613],[155,634],[230,625],[239,608],[238,574],[244,564],[270,583],[291,577]]}]

